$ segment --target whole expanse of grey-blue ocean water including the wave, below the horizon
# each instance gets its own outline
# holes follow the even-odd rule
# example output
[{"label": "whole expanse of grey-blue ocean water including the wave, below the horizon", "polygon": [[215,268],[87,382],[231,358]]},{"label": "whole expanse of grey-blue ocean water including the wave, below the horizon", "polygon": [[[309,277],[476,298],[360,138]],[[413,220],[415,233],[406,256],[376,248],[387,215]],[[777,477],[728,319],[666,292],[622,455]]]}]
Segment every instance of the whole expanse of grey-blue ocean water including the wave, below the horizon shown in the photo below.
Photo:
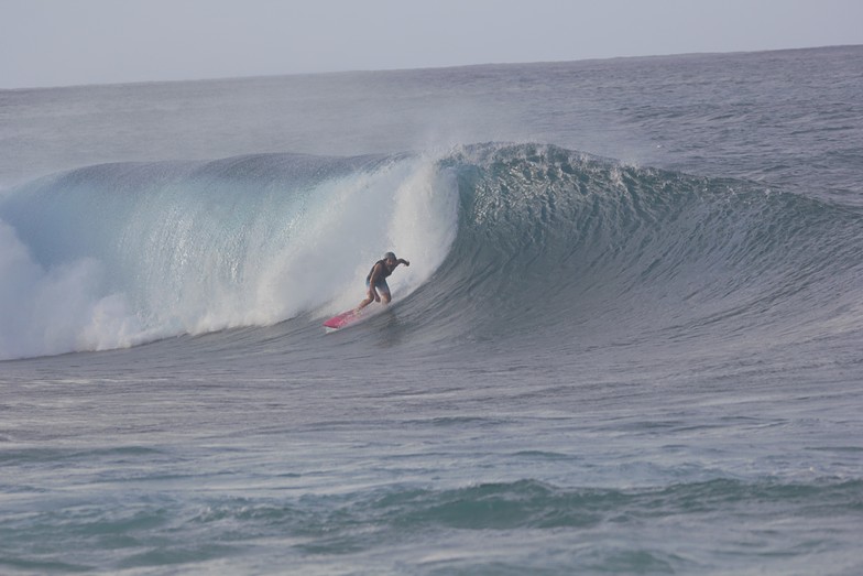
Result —
[{"label": "whole expanse of grey-blue ocean water including the wave, below the horizon", "polygon": [[860,46],[0,91],[0,572],[863,573],[861,94]]}]

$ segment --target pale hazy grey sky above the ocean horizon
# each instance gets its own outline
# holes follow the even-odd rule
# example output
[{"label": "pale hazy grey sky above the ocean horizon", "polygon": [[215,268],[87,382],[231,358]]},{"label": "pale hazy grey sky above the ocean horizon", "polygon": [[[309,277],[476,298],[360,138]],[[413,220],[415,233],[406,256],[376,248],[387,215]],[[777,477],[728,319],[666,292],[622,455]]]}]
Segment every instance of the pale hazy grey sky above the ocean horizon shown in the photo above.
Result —
[{"label": "pale hazy grey sky above the ocean horizon", "polygon": [[862,0],[0,0],[0,88],[863,44]]}]

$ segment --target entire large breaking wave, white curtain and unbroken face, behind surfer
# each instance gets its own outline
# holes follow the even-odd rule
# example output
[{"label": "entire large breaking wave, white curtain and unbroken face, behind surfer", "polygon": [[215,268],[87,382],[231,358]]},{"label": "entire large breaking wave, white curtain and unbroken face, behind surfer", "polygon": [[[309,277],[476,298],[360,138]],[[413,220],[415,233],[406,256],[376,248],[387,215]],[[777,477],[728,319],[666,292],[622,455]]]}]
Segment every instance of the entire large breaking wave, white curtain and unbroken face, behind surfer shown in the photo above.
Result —
[{"label": "entire large breaking wave, white curtain and unbroken face, behind surfer", "polygon": [[391,284],[416,345],[811,341],[859,329],[862,232],[550,145],[97,165],[0,199],[0,358],[316,323],[386,250],[412,261]]}]

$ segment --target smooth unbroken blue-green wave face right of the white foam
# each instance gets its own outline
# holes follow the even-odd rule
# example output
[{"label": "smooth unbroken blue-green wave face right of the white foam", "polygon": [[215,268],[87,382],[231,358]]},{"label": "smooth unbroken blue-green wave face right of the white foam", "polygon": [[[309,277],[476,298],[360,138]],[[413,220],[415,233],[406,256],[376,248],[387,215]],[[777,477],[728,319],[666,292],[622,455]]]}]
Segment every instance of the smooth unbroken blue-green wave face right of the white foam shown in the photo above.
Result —
[{"label": "smooth unbroken blue-green wave face right of the white foam", "polygon": [[562,354],[859,329],[859,214],[554,146],[474,146],[443,165],[458,172],[460,228],[432,290],[474,335]]}]

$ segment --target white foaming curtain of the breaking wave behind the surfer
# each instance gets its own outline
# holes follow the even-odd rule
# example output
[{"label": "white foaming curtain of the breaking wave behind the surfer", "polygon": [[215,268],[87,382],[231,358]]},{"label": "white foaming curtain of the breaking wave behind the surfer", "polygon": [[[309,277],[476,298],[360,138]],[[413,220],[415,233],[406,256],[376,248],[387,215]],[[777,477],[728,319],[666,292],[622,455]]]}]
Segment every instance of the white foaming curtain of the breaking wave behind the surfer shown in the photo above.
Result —
[{"label": "white foaming curtain of the breaking wave behind the surfer", "polygon": [[[112,175],[95,170],[88,184],[113,183]],[[42,192],[62,194],[55,187],[67,184],[56,182]],[[412,262],[393,276],[404,296],[437,269],[455,238],[455,182],[432,157],[393,159],[291,195],[247,196],[266,185],[252,177],[226,188],[183,176],[156,189],[109,191],[129,197],[108,204],[87,192],[63,227],[89,242],[70,251],[62,237],[41,237],[47,263],[2,224],[0,273],[12,280],[2,285],[0,358],[326,314],[362,298],[368,269],[389,250]],[[33,200],[32,210],[39,206]]]}]

